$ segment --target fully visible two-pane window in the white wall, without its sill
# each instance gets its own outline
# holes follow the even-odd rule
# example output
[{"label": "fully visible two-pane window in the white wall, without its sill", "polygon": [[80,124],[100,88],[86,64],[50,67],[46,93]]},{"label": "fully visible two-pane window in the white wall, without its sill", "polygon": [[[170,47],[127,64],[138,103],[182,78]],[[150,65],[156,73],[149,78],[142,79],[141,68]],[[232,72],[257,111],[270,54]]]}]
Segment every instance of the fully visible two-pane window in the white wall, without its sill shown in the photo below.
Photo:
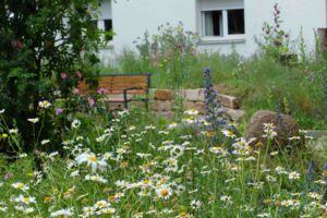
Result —
[{"label": "fully visible two-pane window in the white wall, without its sill", "polygon": [[228,37],[245,34],[244,9],[202,11],[202,35]]}]

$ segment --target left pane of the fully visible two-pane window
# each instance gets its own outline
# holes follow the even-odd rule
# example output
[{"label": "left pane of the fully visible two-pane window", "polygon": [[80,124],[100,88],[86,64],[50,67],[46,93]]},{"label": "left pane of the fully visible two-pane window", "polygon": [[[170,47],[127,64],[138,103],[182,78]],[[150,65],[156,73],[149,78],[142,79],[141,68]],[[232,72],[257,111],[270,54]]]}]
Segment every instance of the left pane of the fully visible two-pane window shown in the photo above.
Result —
[{"label": "left pane of the fully visible two-pane window", "polygon": [[222,12],[207,11],[205,13],[205,36],[222,36]]}]

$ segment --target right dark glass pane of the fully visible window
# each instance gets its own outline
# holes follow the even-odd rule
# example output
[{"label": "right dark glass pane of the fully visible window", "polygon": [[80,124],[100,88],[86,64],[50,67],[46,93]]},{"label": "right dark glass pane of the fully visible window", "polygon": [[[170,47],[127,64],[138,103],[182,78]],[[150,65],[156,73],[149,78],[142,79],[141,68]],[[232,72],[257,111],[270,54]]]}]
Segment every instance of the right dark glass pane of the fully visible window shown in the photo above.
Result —
[{"label": "right dark glass pane of the fully visible window", "polygon": [[228,34],[244,34],[244,10],[229,10],[228,11]]}]

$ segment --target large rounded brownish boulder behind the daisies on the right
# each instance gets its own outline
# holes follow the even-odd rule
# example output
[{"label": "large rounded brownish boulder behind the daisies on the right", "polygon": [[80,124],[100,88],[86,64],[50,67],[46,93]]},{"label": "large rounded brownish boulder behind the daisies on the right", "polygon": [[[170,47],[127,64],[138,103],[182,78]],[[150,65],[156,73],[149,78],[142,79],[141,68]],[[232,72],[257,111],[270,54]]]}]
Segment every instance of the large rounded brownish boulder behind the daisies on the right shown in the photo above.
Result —
[{"label": "large rounded brownish boulder behind the daisies on the right", "polygon": [[259,110],[251,118],[247,125],[247,136],[257,138],[257,142],[265,142],[263,137],[264,123],[272,123],[275,125],[275,144],[286,146],[289,142],[289,137],[299,135],[299,124],[296,121],[287,114],[278,116],[277,112],[269,110]]}]

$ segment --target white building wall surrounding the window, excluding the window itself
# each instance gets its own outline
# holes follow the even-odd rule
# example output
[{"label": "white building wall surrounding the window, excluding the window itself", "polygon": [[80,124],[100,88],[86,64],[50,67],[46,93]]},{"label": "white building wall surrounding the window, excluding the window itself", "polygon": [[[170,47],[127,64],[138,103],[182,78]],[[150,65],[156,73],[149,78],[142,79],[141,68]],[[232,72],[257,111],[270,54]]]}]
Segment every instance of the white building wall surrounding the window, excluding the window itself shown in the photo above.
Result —
[{"label": "white building wall surrounding the window, excluding the window itself", "polygon": [[[281,28],[290,34],[291,39],[298,39],[302,27],[307,48],[313,50],[314,29],[327,27],[326,0],[118,0],[112,1],[112,13],[108,14],[112,16],[116,33],[112,41],[114,50],[104,52],[102,61],[107,56],[119,53],[123,48],[134,48],[133,41],[137,37],[142,37],[146,31],[156,34],[161,24],[170,23],[174,26],[182,22],[186,31],[201,33],[201,10],[240,7],[244,8],[245,13],[245,35],[204,40],[199,48],[230,53],[234,45],[238,52],[251,56],[257,49],[254,38],[262,36],[264,22],[274,23],[275,3],[278,3],[281,10]],[[102,14],[105,13],[106,11],[102,11]]]}]

